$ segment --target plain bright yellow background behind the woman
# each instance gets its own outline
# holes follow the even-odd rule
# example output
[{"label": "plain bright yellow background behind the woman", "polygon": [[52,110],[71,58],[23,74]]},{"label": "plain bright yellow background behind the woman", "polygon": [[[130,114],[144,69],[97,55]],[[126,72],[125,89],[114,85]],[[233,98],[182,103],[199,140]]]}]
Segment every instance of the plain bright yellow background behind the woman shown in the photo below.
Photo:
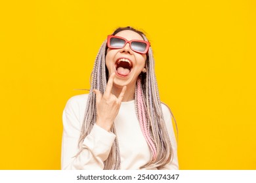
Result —
[{"label": "plain bright yellow background behind the woman", "polygon": [[60,169],[62,110],[119,26],[151,41],[181,169],[256,169],[256,1],[1,1],[0,169]]}]

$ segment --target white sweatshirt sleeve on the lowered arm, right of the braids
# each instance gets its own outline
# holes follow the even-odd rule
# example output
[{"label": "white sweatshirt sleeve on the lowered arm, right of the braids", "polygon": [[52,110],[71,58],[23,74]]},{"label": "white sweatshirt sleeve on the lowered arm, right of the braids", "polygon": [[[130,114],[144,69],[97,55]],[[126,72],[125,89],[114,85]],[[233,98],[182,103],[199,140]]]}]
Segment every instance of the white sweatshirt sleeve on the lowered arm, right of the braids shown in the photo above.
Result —
[{"label": "white sweatshirt sleeve on the lowered arm, right of the braids", "polygon": [[173,123],[171,121],[171,112],[169,110],[169,107],[166,105],[162,105],[163,108],[163,117],[165,119],[165,125],[167,128],[167,132],[169,134],[169,138],[171,140],[171,147],[173,149],[173,158],[169,163],[167,163],[162,170],[177,170],[179,169],[179,163],[178,163],[178,155],[177,155],[177,142],[175,138],[175,133],[173,130]]}]

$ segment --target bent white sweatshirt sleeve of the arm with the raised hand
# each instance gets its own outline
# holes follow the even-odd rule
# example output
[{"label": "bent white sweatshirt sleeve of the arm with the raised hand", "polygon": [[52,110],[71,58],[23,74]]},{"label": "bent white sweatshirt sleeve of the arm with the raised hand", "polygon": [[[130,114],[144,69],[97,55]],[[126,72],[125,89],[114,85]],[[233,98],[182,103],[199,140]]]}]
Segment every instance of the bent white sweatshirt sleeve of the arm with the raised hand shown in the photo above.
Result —
[{"label": "bent white sweatshirt sleeve of the arm with the raised hand", "polygon": [[85,105],[84,98],[75,96],[68,100],[64,108],[61,169],[103,169],[116,138],[116,135],[95,124],[79,152],[78,141]]}]

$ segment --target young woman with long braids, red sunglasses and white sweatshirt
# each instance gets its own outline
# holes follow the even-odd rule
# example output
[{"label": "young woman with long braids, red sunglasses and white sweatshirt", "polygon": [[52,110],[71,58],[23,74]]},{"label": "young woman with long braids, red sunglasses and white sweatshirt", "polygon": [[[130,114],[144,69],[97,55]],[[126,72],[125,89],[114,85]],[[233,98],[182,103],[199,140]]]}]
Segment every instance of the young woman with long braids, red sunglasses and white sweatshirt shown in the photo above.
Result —
[{"label": "young woman with long braids, red sunglasses and white sweatshirt", "polygon": [[63,126],[62,169],[179,169],[150,42],[132,27],[102,44],[91,90],[68,100]]}]

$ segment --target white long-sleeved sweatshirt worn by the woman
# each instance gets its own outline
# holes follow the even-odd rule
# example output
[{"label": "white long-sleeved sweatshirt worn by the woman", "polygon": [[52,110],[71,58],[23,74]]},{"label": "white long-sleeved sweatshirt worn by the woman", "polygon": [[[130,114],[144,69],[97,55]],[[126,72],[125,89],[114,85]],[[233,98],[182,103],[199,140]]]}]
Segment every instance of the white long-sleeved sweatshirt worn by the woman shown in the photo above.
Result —
[{"label": "white long-sleeved sweatshirt worn by the woman", "polygon": [[[87,94],[70,98],[63,112],[62,136],[62,169],[103,169],[104,161],[108,158],[114,140],[117,138],[121,156],[120,169],[140,169],[151,159],[150,148],[142,135],[139,120],[135,111],[135,101],[121,103],[119,113],[114,122],[116,135],[94,125],[91,133],[83,141],[83,150],[75,158],[81,125],[87,104]],[[177,158],[177,143],[171,122],[169,109],[162,105],[163,116],[171,145],[173,160],[163,169],[179,169]]]}]

